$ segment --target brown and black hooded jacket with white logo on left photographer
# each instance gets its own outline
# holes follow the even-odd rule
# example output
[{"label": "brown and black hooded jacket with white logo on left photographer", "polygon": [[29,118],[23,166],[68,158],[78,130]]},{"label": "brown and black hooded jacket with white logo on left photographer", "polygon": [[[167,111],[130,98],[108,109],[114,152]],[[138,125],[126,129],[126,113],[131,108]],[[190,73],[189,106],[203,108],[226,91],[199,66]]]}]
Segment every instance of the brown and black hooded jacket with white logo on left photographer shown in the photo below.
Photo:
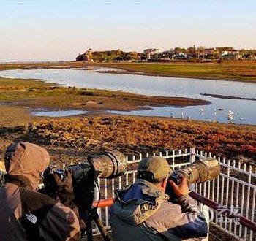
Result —
[{"label": "brown and black hooded jacket with white logo on left photographer", "polygon": [[39,175],[50,161],[48,152],[29,142],[7,148],[5,182],[0,188],[0,240],[78,240],[75,213],[37,192]]}]

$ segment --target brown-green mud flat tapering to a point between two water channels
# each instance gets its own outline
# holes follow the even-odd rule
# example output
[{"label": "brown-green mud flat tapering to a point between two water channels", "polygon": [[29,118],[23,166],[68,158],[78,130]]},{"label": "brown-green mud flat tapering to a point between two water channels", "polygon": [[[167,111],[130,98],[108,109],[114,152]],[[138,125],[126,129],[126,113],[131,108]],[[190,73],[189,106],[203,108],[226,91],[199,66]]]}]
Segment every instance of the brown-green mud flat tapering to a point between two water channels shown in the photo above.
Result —
[{"label": "brown-green mud flat tapering to a point between two water channels", "polygon": [[0,103],[45,110],[150,110],[159,106],[193,106],[211,104],[206,100],[143,96],[124,91],[90,88],[65,88],[42,80],[0,77]]}]

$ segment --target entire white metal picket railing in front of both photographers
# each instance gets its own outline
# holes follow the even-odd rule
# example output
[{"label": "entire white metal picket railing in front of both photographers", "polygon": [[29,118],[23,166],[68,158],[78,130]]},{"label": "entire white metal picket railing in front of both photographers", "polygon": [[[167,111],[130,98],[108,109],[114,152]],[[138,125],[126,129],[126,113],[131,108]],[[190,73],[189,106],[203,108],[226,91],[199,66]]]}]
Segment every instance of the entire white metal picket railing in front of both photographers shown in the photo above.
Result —
[{"label": "entire white metal picket railing in front of both photographers", "polygon": [[[153,153],[153,156],[156,154]],[[187,165],[194,162],[197,158],[211,157],[211,153],[203,153],[202,151],[190,148],[189,151],[172,150],[158,153],[159,156],[167,158],[170,167],[172,169],[181,169],[181,167],[187,167]],[[129,165],[135,166],[143,157],[149,156],[138,155],[138,158],[132,156],[127,157]],[[213,156],[216,158],[216,156]],[[249,165],[247,167],[244,164],[241,167],[241,162],[236,163],[235,161],[226,161],[225,158],[218,158],[221,165],[221,174],[215,180],[210,180],[206,183],[197,183],[193,188],[195,192],[200,195],[211,199],[214,202],[219,203],[224,208],[230,208],[234,214],[244,215],[251,221],[255,222],[255,199],[256,199],[256,173],[255,166]],[[120,189],[125,185],[130,185],[135,182],[136,167],[126,172],[121,177],[115,179],[98,179],[100,190],[95,191],[95,199],[99,199],[99,193],[101,199],[109,199],[114,197],[114,190]],[[201,207],[203,208],[203,207]],[[235,213],[236,212],[236,213]],[[105,224],[107,229],[110,229],[108,221],[108,207],[98,209],[99,217]],[[210,210],[210,221],[215,226],[229,233],[233,237],[241,240],[256,240],[255,232],[247,230],[244,226],[239,223],[235,223],[234,220],[230,220],[225,215],[219,215],[214,210]]]}]

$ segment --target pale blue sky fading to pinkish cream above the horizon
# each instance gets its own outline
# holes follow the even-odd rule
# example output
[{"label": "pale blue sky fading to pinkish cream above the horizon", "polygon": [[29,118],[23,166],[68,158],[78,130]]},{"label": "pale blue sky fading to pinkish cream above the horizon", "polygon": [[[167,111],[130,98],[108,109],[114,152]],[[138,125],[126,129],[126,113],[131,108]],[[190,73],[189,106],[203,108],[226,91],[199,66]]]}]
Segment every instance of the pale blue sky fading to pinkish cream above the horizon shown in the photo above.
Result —
[{"label": "pale blue sky fading to pinkish cream above the horizon", "polygon": [[250,0],[0,0],[0,16],[0,61],[73,60],[89,47],[256,48]]}]

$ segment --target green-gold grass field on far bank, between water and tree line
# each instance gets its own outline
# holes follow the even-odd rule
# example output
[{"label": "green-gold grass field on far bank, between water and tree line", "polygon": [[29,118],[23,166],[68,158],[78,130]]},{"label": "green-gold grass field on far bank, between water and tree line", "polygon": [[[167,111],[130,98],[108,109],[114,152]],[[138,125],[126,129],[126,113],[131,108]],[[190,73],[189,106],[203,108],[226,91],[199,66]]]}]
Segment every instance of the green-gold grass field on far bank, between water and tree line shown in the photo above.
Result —
[{"label": "green-gold grass field on far bank, between water and tree line", "polygon": [[130,72],[159,74],[167,77],[189,77],[214,80],[238,80],[256,82],[256,61],[214,63],[108,63],[89,64],[125,69]]}]

